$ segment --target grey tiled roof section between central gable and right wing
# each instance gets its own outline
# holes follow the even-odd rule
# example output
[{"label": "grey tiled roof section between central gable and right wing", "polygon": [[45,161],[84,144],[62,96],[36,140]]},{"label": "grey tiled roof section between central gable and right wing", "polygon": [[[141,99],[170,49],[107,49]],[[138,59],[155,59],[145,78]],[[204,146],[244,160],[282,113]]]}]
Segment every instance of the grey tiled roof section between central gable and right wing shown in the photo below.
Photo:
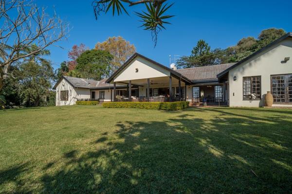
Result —
[{"label": "grey tiled roof section between central gable and right wing", "polygon": [[235,63],[208,65],[193,68],[177,69],[175,71],[179,72],[192,82],[218,81],[217,75],[234,64]]}]

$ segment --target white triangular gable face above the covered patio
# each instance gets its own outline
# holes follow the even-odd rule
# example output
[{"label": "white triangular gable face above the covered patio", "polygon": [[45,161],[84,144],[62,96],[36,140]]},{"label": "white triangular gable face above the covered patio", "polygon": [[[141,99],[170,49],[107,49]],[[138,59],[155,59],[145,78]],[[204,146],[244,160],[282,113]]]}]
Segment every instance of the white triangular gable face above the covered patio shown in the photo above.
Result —
[{"label": "white triangular gable face above the covered patio", "polygon": [[[138,68],[138,72],[136,72],[136,68]],[[168,70],[138,56],[116,76],[114,81],[141,80],[165,76],[170,76]]]}]

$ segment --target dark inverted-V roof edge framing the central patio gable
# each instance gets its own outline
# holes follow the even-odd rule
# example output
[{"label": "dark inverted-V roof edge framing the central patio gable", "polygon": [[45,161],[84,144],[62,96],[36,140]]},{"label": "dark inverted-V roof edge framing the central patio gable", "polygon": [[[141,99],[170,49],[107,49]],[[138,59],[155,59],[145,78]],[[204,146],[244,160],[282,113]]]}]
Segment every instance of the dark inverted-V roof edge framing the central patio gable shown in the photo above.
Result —
[{"label": "dark inverted-V roof edge framing the central patio gable", "polygon": [[164,65],[162,65],[162,64],[160,64],[160,63],[157,63],[156,61],[153,61],[153,60],[151,60],[151,59],[149,59],[149,58],[147,58],[147,57],[145,57],[145,56],[143,56],[143,55],[141,55],[141,54],[139,54],[139,53],[135,53],[135,54],[133,54],[125,63],[124,63],[124,65],[122,65],[122,66],[120,66],[120,68],[118,68],[111,76],[110,76],[110,78],[106,81],[107,83],[110,83],[110,81],[112,81],[113,79],[114,79],[114,77],[119,73],[119,72],[121,72],[132,60],[134,60],[136,57],[141,57],[141,58],[143,58],[143,59],[145,59],[145,60],[147,60],[147,61],[149,61],[149,62],[151,62],[151,63],[153,63],[153,64],[155,64],[155,65],[157,65],[157,66],[159,66],[159,67],[162,67],[162,68],[164,68],[164,69],[166,69],[166,70],[168,70],[173,76],[176,76],[176,77],[178,77],[178,78],[182,78],[184,81],[187,81],[187,82],[189,82],[189,83],[191,83],[191,81],[189,80],[189,79],[187,79],[186,77],[184,77],[182,74],[180,74],[179,72],[177,72],[177,71],[175,71],[175,70],[173,70],[173,69],[171,69],[171,68],[168,68],[167,66],[164,66]]}]

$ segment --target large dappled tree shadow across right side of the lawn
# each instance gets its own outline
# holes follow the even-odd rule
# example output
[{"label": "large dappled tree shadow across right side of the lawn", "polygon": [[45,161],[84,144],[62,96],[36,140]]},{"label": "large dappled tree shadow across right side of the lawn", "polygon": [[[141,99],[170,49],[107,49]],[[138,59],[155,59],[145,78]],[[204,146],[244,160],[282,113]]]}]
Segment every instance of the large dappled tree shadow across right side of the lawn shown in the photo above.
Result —
[{"label": "large dappled tree shadow across right side of the lawn", "polygon": [[[201,110],[193,110],[201,112]],[[43,193],[289,193],[292,120],[182,112],[153,122],[118,122],[95,151],[64,154],[42,178]],[[290,127],[289,127],[290,126]],[[103,146],[101,146],[103,145]],[[105,146],[106,145],[106,146]],[[50,170],[52,164],[44,165]]]}]

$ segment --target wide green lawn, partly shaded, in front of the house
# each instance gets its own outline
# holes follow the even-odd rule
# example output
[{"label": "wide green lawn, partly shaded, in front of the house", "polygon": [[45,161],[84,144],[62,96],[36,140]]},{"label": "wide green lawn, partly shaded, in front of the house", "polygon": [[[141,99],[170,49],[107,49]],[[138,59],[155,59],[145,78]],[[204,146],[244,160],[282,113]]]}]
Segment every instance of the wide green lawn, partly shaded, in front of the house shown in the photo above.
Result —
[{"label": "wide green lawn, partly shaded, in front of the house", "polygon": [[289,193],[292,110],[0,111],[0,193]]}]

